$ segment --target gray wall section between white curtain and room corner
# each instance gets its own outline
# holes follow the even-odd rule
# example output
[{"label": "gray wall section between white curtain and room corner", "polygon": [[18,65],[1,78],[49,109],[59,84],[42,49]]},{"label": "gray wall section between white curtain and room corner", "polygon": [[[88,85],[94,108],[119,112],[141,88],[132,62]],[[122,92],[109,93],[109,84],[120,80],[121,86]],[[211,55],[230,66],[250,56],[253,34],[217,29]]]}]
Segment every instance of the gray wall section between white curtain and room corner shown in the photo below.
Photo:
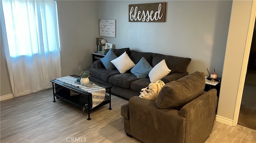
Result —
[{"label": "gray wall section between white curtain and room corner", "polygon": [[98,1],[58,0],[60,28],[60,58],[62,76],[80,75],[92,67],[92,53],[96,51],[99,35]]}]

